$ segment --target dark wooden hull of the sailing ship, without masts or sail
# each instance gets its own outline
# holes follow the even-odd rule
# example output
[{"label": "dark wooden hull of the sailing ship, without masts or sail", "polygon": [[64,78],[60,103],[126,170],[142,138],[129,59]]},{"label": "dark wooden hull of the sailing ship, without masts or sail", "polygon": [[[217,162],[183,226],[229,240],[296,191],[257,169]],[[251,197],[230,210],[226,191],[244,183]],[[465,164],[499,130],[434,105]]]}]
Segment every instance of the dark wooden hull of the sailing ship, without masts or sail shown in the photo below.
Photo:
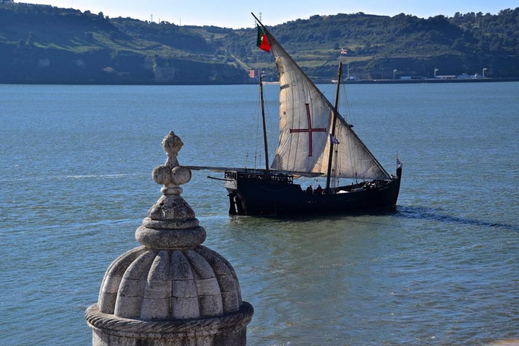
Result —
[{"label": "dark wooden hull of the sailing ship, without masts or sail", "polygon": [[402,169],[386,180],[307,192],[284,174],[225,172],[231,215],[342,213],[397,204]]}]

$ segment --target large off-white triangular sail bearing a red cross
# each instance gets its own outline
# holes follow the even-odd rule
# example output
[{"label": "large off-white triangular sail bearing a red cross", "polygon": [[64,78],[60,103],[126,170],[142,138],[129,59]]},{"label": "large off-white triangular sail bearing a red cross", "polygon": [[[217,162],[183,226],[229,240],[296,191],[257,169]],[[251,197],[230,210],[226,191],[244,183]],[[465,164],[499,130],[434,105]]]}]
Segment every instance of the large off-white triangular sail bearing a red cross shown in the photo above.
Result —
[{"label": "large off-white triangular sail bearing a red cross", "polygon": [[[272,168],[326,173],[334,107],[289,54],[263,27],[279,73],[279,145]],[[331,176],[359,179],[389,177],[343,117],[337,114],[335,169]],[[337,153],[335,153],[337,151]]]}]

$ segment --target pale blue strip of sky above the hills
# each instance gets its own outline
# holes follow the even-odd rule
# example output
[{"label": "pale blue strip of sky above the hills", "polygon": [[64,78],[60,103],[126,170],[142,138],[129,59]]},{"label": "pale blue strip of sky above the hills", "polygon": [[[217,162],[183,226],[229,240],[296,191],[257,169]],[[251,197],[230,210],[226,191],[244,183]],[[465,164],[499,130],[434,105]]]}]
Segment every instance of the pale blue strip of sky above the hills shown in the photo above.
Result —
[{"label": "pale blue strip of sky above the hills", "polygon": [[[24,1],[25,2],[25,1]],[[57,7],[77,8],[94,13],[102,11],[110,17],[132,17],[141,20],[166,20],[181,25],[216,25],[233,27],[253,26],[250,12],[262,12],[265,25],[276,25],[313,15],[364,12],[372,15],[394,16],[398,13],[428,18],[444,15],[452,17],[461,12],[490,12],[496,14],[505,8],[519,7],[519,1],[509,0],[38,0],[31,3]]]}]

